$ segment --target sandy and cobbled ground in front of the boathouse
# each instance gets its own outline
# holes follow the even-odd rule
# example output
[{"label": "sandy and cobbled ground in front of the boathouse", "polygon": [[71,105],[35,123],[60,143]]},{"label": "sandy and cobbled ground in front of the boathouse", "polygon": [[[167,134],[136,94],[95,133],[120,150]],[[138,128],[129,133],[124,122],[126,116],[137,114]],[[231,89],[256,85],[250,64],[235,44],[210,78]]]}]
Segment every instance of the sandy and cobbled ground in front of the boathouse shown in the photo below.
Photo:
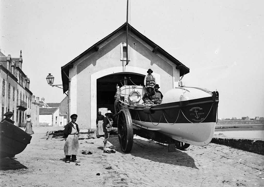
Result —
[{"label": "sandy and cobbled ground in front of the boathouse", "polygon": [[[117,151],[107,154],[102,137],[84,139],[76,166],[63,162],[61,138],[44,137],[33,137],[16,160],[1,159],[1,186],[264,186],[264,156],[224,145],[191,145],[169,153],[168,147],[135,136],[131,152],[123,153],[111,136],[108,146]],[[14,162],[20,164],[17,170]]]}]

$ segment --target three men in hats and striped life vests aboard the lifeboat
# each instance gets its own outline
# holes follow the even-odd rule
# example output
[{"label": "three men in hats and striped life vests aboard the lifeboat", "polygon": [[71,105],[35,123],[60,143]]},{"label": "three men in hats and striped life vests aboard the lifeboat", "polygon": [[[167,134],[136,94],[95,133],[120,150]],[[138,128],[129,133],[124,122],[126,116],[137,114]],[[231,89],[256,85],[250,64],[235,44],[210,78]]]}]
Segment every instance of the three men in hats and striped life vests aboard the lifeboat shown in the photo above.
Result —
[{"label": "three men in hats and striped life vests aboard the lifeboat", "polygon": [[155,77],[152,75],[153,71],[148,69],[148,75],[145,76],[144,86],[147,88],[147,92],[143,95],[142,100],[146,104],[161,104],[163,95],[158,90],[160,87],[155,82]]}]

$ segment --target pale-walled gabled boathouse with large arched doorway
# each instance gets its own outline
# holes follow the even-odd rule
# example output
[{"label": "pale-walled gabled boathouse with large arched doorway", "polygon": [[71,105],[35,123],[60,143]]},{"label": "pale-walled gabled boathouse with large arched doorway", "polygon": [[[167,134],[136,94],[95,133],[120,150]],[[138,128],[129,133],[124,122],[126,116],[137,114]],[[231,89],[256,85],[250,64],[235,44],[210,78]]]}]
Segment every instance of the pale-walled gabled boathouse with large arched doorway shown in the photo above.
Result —
[{"label": "pale-walled gabled boathouse with large arched doorway", "polygon": [[116,86],[122,86],[124,77],[143,85],[148,69],[152,69],[159,90],[166,93],[189,73],[189,68],[131,25],[128,44],[126,38],[124,23],[61,68],[63,92],[69,96],[68,114],[78,115],[81,129],[96,128],[98,111],[114,111]]}]

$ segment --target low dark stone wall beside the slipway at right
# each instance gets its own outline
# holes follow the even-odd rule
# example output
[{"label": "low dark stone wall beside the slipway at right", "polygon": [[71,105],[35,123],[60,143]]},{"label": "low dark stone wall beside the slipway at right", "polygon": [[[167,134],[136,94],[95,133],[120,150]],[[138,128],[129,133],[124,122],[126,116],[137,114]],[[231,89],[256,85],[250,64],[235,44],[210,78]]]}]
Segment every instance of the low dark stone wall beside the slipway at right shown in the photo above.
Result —
[{"label": "low dark stone wall beside the slipway at right", "polygon": [[263,140],[213,138],[211,143],[227,145],[229,147],[264,155]]}]

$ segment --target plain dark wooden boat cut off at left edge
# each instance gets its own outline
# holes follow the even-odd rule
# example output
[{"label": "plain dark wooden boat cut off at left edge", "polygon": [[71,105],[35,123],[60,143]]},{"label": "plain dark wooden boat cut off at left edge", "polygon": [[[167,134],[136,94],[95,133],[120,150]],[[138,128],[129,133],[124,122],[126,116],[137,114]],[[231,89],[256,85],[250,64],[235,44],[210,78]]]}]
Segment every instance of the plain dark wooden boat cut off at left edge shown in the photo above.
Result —
[{"label": "plain dark wooden boat cut off at left edge", "polygon": [[32,136],[7,121],[0,122],[0,158],[15,157],[30,143]]}]

